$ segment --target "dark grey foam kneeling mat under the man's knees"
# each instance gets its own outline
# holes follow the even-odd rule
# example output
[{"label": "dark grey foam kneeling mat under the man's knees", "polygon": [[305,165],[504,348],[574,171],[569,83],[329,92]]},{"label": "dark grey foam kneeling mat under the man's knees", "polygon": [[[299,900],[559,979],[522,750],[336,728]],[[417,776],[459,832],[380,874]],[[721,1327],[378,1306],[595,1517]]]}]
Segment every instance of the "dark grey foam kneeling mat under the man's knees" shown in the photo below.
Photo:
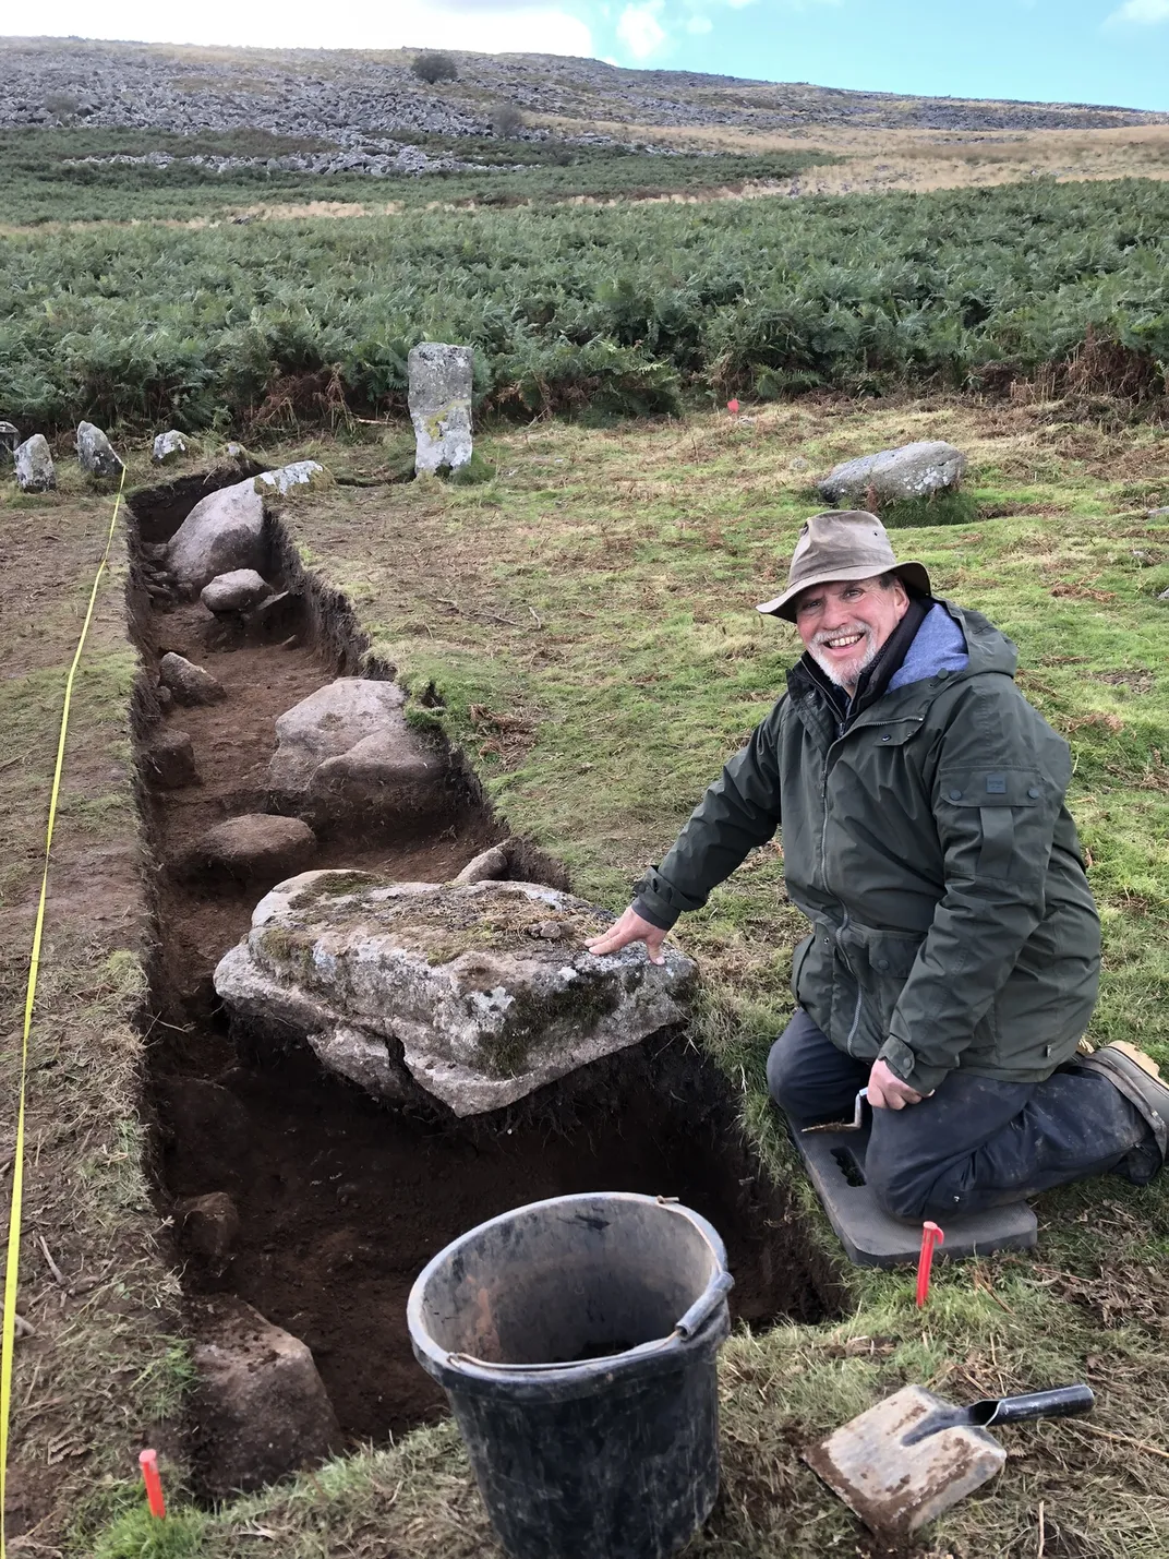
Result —
[{"label": "dark grey foam kneeling mat under the man's knees", "polygon": [[[787,1127],[804,1160],[812,1185],[825,1205],[848,1260],[856,1266],[899,1266],[921,1253],[921,1224],[907,1224],[882,1213],[865,1180],[868,1124],[859,1132],[812,1132],[789,1118]],[[1035,1244],[1035,1213],[1026,1202],[996,1207],[988,1213],[938,1218],[945,1243],[935,1257],[982,1257],[991,1250],[1026,1250]]]}]

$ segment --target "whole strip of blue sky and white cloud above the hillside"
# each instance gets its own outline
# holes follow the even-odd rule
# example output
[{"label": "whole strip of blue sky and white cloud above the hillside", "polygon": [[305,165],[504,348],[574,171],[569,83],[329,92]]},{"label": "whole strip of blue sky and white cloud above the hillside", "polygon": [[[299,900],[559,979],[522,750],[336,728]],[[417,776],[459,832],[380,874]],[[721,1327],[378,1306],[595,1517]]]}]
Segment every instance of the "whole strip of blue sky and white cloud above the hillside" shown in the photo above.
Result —
[{"label": "whole strip of blue sky and white cloud above the hillside", "polygon": [[31,31],[535,50],[768,81],[1169,109],[1169,0],[42,0],[31,9],[0,0],[0,37]]}]

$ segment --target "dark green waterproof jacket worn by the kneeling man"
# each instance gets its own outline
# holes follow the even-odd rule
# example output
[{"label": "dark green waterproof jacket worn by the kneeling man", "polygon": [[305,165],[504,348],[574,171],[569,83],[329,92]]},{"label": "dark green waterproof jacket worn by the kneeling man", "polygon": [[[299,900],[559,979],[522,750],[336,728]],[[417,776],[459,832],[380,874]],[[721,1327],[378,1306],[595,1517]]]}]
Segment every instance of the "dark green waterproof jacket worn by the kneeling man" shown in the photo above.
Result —
[{"label": "dark green waterproof jacket worn by the kneeling man", "polygon": [[787,892],[812,923],[796,1001],[921,1093],[957,1066],[1047,1077],[1088,1026],[1100,968],[1068,744],[1015,686],[1010,639],[940,605],[963,670],[884,692],[845,725],[801,661],[634,901],[672,926],[782,825]]}]

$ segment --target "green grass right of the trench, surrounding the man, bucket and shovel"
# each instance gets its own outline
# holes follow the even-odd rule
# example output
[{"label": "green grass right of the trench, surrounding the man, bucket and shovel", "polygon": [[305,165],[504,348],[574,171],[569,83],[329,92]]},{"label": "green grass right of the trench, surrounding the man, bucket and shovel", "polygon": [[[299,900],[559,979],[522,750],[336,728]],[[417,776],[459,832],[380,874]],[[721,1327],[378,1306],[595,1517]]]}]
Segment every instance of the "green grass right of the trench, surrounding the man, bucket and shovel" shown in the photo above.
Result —
[{"label": "green grass right of the trench, surrounding the man, bucket and shovel", "polygon": [[[510,823],[563,856],[580,892],[622,907],[678,823],[782,688],[793,635],[754,602],[782,575],[809,483],[837,458],[915,437],[971,455],[973,518],[895,532],[938,592],[1018,642],[1021,684],[1075,755],[1071,806],[1105,926],[1097,1041],[1169,1060],[1169,443],[1105,433],[1046,402],[851,402],[619,429],[538,424],[480,438],[479,485],[340,486],[287,518]],[[371,474],[366,438],[285,446]],[[273,452],[273,458],[276,452]],[[137,457],[142,460],[142,457]],[[142,466],[139,466],[142,469]],[[61,499],[45,499],[51,514]],[[969,511],[968,511],[969,513]],[[890,516],[892,518],[892,516]],[[915,516],[921,519],[923,516]],[[929,516],[924,516],[929,518]],[[764,1161],[825,1252],[834,1241],[765,1101],[767,1045],[790,1006],[800,917],[781,856],[756,853],[678,940],[703,970],[701,1040],[742,1090]],[[1008,1465],[929,1534],[932,1559],[1160,1559],[1169,1548],[1169,1197],[1104,1180],[1041,1197],[1040,1247],[940,1274],[920,1316],[904,1274],[843,1271],[820,1327],[737,1335],[722,1366],[725,1490],[694,1559],[864,1553],[853,1517],[798,1461],[803,1441],[907,1380],[969,1398],[1086,1378],[1091,1419],[1008,1433]],[[181,1469],[176,1469],[176,1476]],[[132,1508],[70,1553],[282,1559],[494,1553],[450,1425],[203,1512],[165,1532]],[[86,1548],[84,1543],[89,1543]],[[81,1547],[78,1547],[81,1543]]]}]

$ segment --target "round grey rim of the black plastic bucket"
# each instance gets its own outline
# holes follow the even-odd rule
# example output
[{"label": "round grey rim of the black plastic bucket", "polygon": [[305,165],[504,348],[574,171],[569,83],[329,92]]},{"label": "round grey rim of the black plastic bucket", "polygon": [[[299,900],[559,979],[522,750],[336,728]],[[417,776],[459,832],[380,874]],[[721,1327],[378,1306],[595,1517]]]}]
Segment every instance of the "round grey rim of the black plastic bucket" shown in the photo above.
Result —
[{"label": "round grey rim of the black plastic bucket", "polygon": [[[569,1208],[575,1202],[595,1202],[603,1197],[606,1202],[634,1202],[648,1207],[659,1207],[669,1213],[684,1218],[697,1232],[703,1236],[714,1257],[714,1272],[711,1274],[703,1294],[695,1299],[695,1303],[687,1311],[690,1316],[700,1305],[701,1299],[712,1294],[715,1300],[715,1308],[722,1308],[719,1302],[731,1289],[734,1278],[726,1266],[726,1246],[719,1230],[701,1213],[695,1213],[692,1207],[686,1207],[678,1200],[676,1196],[650,1196],[644,1191],[574,1191],[569,1196],[549,1196],[539,1202],[524,1202],[521,1207],[508,1208],[505,1213],[497,1213],[494,1218],[485,1219],[482,1224],[475,1224],[474,1228],[468,1228],[457,1239],[443,1246],[422,1267],[422,1271],[415,1278],[410,1286],[410,1297],[407,1299],[405,1314],[407,1325],[410,1330],[410,1341],[415,1347],[415,1355],[422,1363],[422,1355],[426,1355],[427,1372],[436,1377],[458,1375],[463,1380],[479,1380],[485,1384],[499,1383],[508,1377],[513,1380],[528,1381],[533,1386],[541,1383],[553,1383],[558,1380],[566,1380],[570,1372],[580,1372],[584,1366],[580,1363],[574,1364],[491,1364],[486,1359],[475,1359],[468,1353],[460,1353],[452,1349],[444,1349],[430,1335],[429,1328],[422,1320],[422,1296],[426,1292],[427,1283],[440,1264],[450,1260],[452,1252],[458,1250],[460,1246],[468,1244],[479,1235],[486,1233],[491,1228],[497,1228],[503,1224],[511,1222],[521,1213],[533,1213],[541,1208],[549,1207],[564,1207]],[[589,1370],[595,1370],[597,1366],[606,1367],[609,1372],[622,1370],[623,1366],[634,1369],[639,1366],[647,1355],[661,1353],[667,1344],[678,1344],[681,1341],[689,1341],[690,1336],[697,1336],[706,1330],[706,1322],[711,1319],[709,1314],[701,1317],[701,1322],[692,1330],[683,1330],[681,1324],[686,1317],[680,1317],[678,1325],[670,1333],[662,1338],[652,1338],[648,1342],[639,1342],[633,1349],[627,1349],[622,1353],[606,1353],[602,1358],[594,1358],[588,1361]]]}]

